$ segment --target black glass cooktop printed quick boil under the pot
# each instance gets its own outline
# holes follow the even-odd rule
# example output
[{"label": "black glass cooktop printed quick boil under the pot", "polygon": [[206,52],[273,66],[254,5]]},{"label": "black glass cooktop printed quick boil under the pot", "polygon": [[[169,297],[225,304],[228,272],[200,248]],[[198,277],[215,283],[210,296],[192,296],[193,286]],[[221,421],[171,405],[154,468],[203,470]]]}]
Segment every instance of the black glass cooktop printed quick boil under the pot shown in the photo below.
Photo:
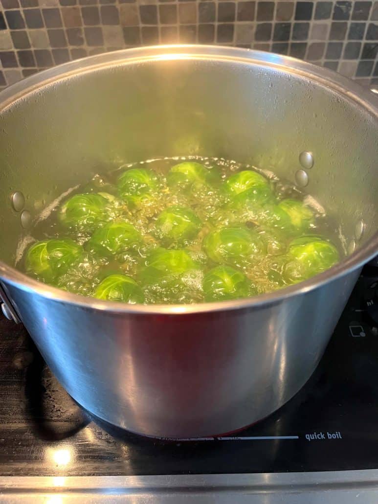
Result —
[{"label": "black glass cooktop printed quick boil under the pot", "polygon": [[2,319],[0,474],[378,468],[377,280],[376,268],[364,269],[321,363],[291,401],[253,427],[215,439],[165,442],[94,421],[51,375],[23,326]]}]

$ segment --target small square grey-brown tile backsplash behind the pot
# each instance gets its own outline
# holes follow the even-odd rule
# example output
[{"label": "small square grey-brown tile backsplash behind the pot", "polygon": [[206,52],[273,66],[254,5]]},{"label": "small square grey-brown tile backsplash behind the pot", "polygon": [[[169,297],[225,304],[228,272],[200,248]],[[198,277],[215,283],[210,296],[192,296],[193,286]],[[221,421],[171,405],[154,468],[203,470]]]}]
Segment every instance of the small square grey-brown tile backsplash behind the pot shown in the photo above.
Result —
[{"label": "small square grey-brown tile backsplash behind the pot", "polygon": [[169,43],[289,54],[378,84],[378,1],[0,2],[0,89],[72,59]]}]

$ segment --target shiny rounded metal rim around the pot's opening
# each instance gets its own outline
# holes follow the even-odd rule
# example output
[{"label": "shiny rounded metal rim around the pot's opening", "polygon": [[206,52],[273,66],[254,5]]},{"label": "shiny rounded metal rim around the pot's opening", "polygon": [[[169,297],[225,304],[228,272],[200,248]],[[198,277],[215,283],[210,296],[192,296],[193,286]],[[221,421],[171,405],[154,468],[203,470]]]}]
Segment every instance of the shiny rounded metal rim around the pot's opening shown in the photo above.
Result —
[{"label": "shiny rounded metal rim around the pot's opening", "polygon": [[[342,94],[345,98],[365,108],[378,121],[378,99],[368,89],[331,70],[312,65],[305,61],[280,54],[210,45],[159,45],[139,47],[107,52],[78,59],[32,75],[4,91],[0,92],[0,113],[15,101],[24,98],[37,89],[46,87],[58,80],[68,79],[77,74],[101,70],[109,66],[123,66],[138,62],[173,59],[205,59],[212,61],[233,61],[250,65],[259,65],[298,75],[317,82]],[[343,277],[372,259],[378,252],[378,232],[361,248],[354,251],[338,264],[319,275],[311,277],[289,287],[256,297],[196,304],[124,304],[117,301],[101,301],[93,297],[73,294],[56,287],[51,287],[21,273],[0,261],[0,277],[13,286],[25,291],[35,292],[45,298],[61,301],[83,308],[98,309],[114,313],[149,313],[149,314],[188,314],[210,311],[223,311],[241,308],[259,308],[304,294],[324,284]]]}]

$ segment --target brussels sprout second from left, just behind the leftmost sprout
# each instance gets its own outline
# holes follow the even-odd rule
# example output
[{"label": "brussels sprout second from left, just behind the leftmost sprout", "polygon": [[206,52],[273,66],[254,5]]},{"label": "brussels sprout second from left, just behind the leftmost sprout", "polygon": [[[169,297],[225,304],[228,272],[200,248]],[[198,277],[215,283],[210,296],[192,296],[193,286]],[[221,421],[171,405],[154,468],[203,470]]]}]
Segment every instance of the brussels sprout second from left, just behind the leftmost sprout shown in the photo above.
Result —
[{"label": "brussels sprout second from left, just behind the leftmost sprout", "polygon": [[60,209],[59,219],[66,227],[91,231],[109,220],[108,200],[98,194],[76,194]]}]

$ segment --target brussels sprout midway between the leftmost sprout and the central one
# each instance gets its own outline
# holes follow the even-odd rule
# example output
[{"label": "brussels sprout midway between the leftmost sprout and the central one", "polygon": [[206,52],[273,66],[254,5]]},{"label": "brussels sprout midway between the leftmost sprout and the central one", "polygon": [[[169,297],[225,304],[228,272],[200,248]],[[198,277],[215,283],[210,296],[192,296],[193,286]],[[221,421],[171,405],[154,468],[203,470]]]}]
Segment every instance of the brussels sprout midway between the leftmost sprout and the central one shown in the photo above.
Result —
[{"label": "brussels sprout midway between the leftmost sprout and the central one", "polygon": [[110,222],[96,229],[86,248],[101,256],[111,256],[135,248],[142,242],[142,235],[132,224]]}]

